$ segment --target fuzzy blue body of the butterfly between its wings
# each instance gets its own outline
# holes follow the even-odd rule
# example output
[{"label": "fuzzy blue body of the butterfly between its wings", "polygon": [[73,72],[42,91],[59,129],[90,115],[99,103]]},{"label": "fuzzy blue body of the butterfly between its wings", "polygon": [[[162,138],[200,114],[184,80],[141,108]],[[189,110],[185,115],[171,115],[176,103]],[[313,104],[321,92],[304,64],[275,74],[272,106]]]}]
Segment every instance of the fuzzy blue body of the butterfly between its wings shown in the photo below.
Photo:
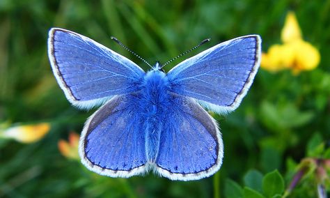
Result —
[{"label": "fuzzy blue body of the butterfly between its wings", "polygon": [[168,109],[168,82],[164,73],[152,70],[146,74],[143,84],[141,109],[146,117],[143,124],[146,137],[146,156],[148,162],[155,162],[163,122],[166,119],[164,112]]}]

